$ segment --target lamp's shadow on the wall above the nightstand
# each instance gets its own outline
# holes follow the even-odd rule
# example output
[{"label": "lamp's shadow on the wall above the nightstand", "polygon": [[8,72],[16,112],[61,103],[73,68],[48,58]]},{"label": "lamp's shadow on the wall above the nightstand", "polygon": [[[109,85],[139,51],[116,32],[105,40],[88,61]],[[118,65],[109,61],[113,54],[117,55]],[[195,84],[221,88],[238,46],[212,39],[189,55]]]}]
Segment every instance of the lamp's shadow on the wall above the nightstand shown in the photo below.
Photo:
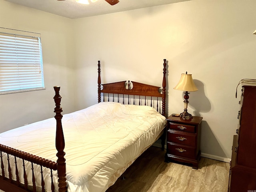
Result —
[{"label": "lamp's shadow on the wall above the nightstand", "polygon": [[206,113],[211,110],[211,104],[204,93],[204,84],[199,80],[194,80],[198,91],[190,92],[188,105],[194,109],[193,116],[201,116],[200,112]]}]

